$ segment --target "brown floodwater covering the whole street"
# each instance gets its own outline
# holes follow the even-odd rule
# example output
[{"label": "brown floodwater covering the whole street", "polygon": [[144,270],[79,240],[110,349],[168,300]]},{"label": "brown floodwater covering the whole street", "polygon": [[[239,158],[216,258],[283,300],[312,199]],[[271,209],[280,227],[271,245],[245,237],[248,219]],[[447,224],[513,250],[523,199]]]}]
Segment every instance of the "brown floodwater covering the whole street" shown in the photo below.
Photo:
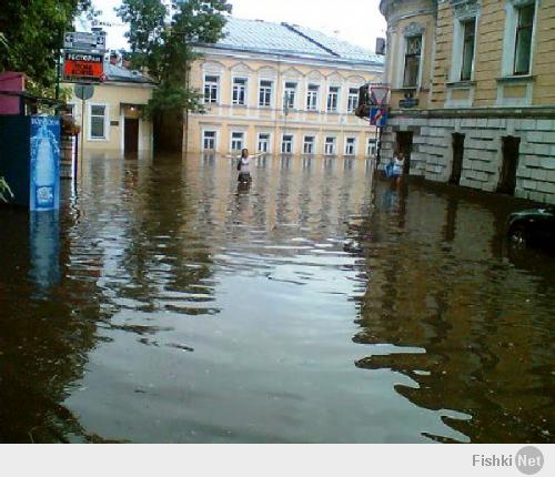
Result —
[{"label": "brown floodwater covering the whole street", "polygon": [[554,442],[526,204],[372,171],[97,156],[59,216],[0,209],[0,440]]}]

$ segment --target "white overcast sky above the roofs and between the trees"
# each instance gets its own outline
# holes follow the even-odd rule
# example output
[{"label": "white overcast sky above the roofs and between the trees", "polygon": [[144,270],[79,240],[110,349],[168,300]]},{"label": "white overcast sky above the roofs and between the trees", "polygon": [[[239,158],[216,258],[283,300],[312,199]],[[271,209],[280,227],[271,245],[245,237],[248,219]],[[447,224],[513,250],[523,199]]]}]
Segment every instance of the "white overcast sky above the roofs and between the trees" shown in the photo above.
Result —
[{"label": "white overcast sky above the roofs and between the trees", "polygon": [[[374,50],[375,38],[385,35],[385,20],[380,13],[380,0],[229,0],[238,18],[296,23],[335,35],[342,40]],[[101,21],[120,23],[113,9],[119,0],[93,0],[102,10]],[[80,29],[79,24],[77,26]],[[81,27],[83,28],[83,27]],[[125,27],[111,27],[108,48],[127,47]]]}]

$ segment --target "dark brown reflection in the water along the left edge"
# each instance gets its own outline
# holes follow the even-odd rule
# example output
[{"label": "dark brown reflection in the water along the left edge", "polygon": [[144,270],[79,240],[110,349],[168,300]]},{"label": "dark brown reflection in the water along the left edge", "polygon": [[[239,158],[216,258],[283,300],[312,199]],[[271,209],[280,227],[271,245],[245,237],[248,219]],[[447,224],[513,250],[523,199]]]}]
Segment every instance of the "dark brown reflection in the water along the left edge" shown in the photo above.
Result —
[{"label": "dark brown reflection in the water along the left edge", "polygon": [[8,231],[0,246],[0,442],[103,442],[63,406],[99,342],[98,322],[109,318],[94,280],[69,271],[71,244],[62,240],[57,257],[62,282],[39,297],[31,281],[28,214],[0,211],[0,230]]}]

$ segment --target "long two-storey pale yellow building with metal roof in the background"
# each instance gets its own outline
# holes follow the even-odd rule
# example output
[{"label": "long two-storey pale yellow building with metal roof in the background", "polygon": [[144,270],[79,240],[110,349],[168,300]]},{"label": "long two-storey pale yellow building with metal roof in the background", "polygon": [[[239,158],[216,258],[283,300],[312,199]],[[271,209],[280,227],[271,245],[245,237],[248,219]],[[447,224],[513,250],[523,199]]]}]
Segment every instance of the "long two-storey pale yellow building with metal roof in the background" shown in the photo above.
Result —
[{"label": "long two-storey pale yellow building with metal roof in the background", "polygon": [[191,84],[206,111],[189,118],[189,152],[374,154],[374,128],[354,110],[359,88],[381,81],[381,57],[303,27],[235,18],[223,40],[198,50]]}]

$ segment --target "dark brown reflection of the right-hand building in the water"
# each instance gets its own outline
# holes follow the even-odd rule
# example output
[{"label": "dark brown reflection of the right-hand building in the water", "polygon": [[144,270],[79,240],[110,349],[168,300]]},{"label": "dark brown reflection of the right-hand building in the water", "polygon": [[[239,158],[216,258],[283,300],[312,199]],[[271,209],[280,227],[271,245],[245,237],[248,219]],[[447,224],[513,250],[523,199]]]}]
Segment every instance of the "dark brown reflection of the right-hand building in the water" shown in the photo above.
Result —
[{"label": "dark brown reflection of the right-hand building in the water", "polygon": [[[415,187],[420,190],[411,185],[406,210],[393,212],[403,219],[392,216],[377,199],[382,206],[355,231],[370,278],[360,298],[361,331],[353,339],[405,348],[369,355],[356,366],[408,376],[415,386],[395,388],[420,407],[471,416],[443,420],[472,442],[551,442],[553,285],[546,293],[541,268],[534,268],[537,277],[529,277],[502,264],[490,243],[502,226],[492,220],[495,211],[416,194]],[[438,204],[445,211],[443,224],[418,216]],[[493,222],[493,237],[465,226],[462,216],[468,209],[474,221],[487,224],[483,231]],[[443,248],[444,241],[458,252]]]}]

